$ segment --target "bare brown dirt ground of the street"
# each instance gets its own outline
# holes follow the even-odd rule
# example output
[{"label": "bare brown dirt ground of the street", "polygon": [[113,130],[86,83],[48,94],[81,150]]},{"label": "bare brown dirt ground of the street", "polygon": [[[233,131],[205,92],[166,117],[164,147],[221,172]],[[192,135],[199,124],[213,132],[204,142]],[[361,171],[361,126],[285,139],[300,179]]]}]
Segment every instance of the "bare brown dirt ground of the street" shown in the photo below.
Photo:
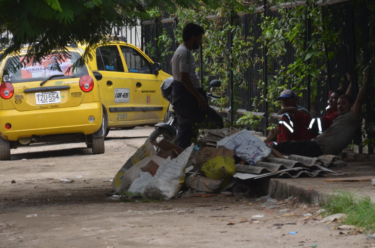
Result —
[{"label": "bare brown dirt ground of the street", "polygon": [[111,179],[152,130],[112,130],[101,155],[84,143],[12,150],[0,161],[0,247],[372,246],[338,222],[318,223],[320,206],[298,199],[275,208],[260,195],[111,199]]}]

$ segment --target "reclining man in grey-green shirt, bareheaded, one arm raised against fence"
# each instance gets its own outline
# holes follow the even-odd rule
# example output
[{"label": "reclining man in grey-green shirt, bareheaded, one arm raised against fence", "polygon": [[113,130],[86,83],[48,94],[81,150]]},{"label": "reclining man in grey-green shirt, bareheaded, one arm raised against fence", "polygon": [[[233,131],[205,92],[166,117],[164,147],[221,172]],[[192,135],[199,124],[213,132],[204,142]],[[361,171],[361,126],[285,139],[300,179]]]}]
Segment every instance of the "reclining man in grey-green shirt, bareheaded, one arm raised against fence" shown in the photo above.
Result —
[{"label": "reclining man in grey-green shirt, bareheaded, one arm raised against fence", "polygon": [[339,116],[323,133],[312,140],[283,141],[274,146],[285,154],[296,154],[306,157],[319,157],[323,154],[339,155],[353,140],[353,136],[361,125],[360,112],[369,81],[369,70],[365,69],[364,82],[356,101],[344,94],[338,99]]}]

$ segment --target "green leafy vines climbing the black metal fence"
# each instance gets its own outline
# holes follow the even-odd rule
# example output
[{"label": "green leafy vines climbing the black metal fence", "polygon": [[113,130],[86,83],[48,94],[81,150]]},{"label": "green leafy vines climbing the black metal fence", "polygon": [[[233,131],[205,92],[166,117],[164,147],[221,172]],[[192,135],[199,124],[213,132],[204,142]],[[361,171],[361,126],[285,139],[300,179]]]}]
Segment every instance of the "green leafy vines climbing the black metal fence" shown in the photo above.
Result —
[{"label": "green leafy vines climbing the black metal fence", "polygon": [[[205,75],[204,84],[208,85],[208,77],[216,77],[222,82],[219,89],[215,89],[215,94],[221,94],[223,98],[220,100],[221,106],[228,106],[229,97],[225,96],[225,92],[229,85],[230,73],[233,73],[233,102],[232,109],[241,106],[242,99],[239,99],[239,91],[243,89],[249,90],[250,83],[246,82],[245,75],[252,67],[257,66],[258,70],[258,88],[262,91],[260,97],[252,99],[253,109],[248,111],[258,112],[265,102],[267,102],[269,114],[278,111],[280,102],[276,100],[280,92],[286,88],[295,91],[299,97],[306,97],[306,89],[311,89],[310,99],[311,112],[313,115],[317,113],[317,105],[320,99],[318,88],[326,85],[327,78],[324,76],[327,71],[327,61],[336,57],[338,47],[342,43],[343,33],[341,30],[332,28],[333,21],[330,16],[330,10],[323,18],[322,7],[317,5],[318,0],[307,0],[307,6],[282,7],[281,4],[287,0],[270,0],[267,6],[276,5],[277,12],[266,12],[262,14],[263,21],[260,23],[261,37],[256,38],[255,33],[250,30],[243,30],[240,18],[237,12],[244,11],[251,13],[255,5],[247,4],[246,7],[233,8],[231,4],[238,1],[228,1],[229,4],[221,4],[220,8],[210,10],[203,4],[198,9],[183,9],[177,7],[169,12],[171,17],[178,18],[178,26],[176,30],[177,42],[181,43],[181,30],[186,21],[191,21],[202,25],[205,29],[203,39],[203,68]],[[355,4],[354,4],[355,5]],[[369,8],[375,8],[375,4],[371,4]],[[153,13],[157,18],[162,16],[160,10]],[[207,18],[207,16],[216,16],[216,18]],[[233,18],[231,25],[230,18]],[[308,23],[311,26],[311,32],[306,33]],[[374,25],[372,25],[374,26]],[[374,28],[372,28],[374,29]],[[249,31],[249,35],[244,35]],[[158,38],[158,47],[167,46],[171,41],[171,37],[163,31]],[[232,34],[232,47],[229,52],[229,33]],[[372,47],[374,45],[372,44]],[[263,62],[265,54],[255,54],[254,48],[267,49],[267,96],[264,97],[263,81]],[[292,48],[292,49],[290,49]],[[152,51],[151,45],[147,45],[147,49]],[[156,52],[156,51],[155,51]],[[163,50],[158,49],[159,58],[166,54]],[[293,60],[287,61],[287,57],[293,54]],[[198,57],[198,54],[194,54]],[[362,55],[359,55],[362,56]],[[230,64],[229,62],[232,62]],[[357,66],[357,69],[359,67]],[[333,73],[332,76],[340,76]],[[342,79],[344,80],[344,79]],[[236,125],[258,124],[259,118],[254,115],[235,116],[233,123]],[[273,126],[270,123],[271,127]]]}]

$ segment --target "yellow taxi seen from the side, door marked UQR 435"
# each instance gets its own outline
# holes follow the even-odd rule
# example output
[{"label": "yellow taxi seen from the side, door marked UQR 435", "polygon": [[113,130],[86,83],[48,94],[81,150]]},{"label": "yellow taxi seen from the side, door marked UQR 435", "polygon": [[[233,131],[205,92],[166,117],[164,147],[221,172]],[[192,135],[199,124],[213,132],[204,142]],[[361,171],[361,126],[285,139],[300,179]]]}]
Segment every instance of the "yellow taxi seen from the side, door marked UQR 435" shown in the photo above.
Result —
[{"label": "yellow taxi seen from the side, door marked UQR 435", "polygon": [[[84,49],[84,47],[83,47]],[[160,92],[160,85],[171,77],[161,70],[141,49],[111,41],[98,45],[88,61],[98,81],[107,133],[110,128],[132,128],[164,121],[169,102]]]}]

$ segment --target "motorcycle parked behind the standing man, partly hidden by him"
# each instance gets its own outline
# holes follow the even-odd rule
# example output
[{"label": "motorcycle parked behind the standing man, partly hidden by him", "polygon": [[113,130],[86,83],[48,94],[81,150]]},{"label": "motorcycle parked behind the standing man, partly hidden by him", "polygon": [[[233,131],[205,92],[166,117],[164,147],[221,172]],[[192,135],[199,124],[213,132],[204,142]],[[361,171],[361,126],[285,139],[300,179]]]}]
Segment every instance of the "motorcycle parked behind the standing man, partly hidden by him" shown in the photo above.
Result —
[{"label": "motorcycle parked behind the standing man, partly hidden by him", "polygon": [[[172,93],[172,81],[173,78],[167,78],[163,81],[162,85],[160,86],[161,93],[164,99],[170,102],[170,97]],[[221,83],[219,80],[214,79],[210,82],[209,86],[205,90],[207,92],[207,97],[210,99],[220,99],[220,96],[216,96],[210,92],[211,87],[220,87]],[[173,144],[177,143],[177,129],[178,129],[178,121],[175,115],[173,106],[169,103],[168,110],[166,111],[164,121],[155,124],[155,130],[152,131],[148,138],[152,141],[159,143],[162,139],[167,140]],[[156,152],[163,151],[162,148],[155,146]]]}]

